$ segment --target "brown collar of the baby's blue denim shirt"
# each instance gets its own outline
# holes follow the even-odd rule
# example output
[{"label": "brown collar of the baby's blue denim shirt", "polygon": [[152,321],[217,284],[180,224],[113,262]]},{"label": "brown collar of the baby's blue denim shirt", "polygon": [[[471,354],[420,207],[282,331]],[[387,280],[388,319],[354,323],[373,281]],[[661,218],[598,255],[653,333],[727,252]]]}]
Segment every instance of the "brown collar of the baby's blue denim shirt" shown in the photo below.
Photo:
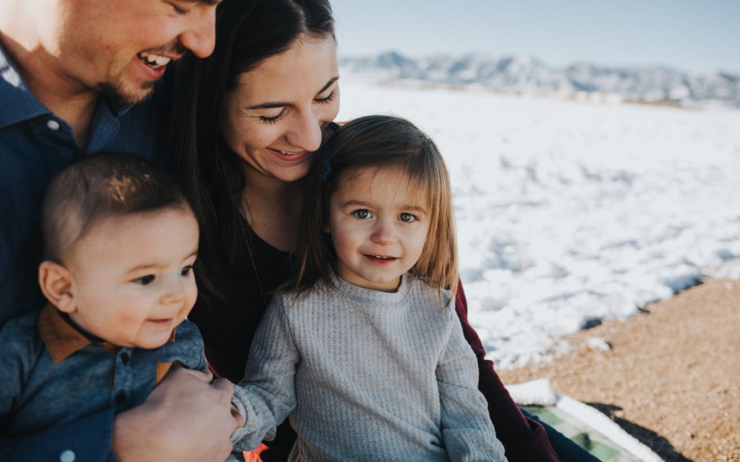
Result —
[{"label": "brown collar of the baby's blue denim shirt", "polygon": [[[55,363],[92,344],[90,338],[67,322],[51,303],[47,303],[38,316],[38,330]],[[175,329],[172,330],[167,342],[175,342]],[[121,348],[110,342],[102,342],[100,345],[110,352]]]}]

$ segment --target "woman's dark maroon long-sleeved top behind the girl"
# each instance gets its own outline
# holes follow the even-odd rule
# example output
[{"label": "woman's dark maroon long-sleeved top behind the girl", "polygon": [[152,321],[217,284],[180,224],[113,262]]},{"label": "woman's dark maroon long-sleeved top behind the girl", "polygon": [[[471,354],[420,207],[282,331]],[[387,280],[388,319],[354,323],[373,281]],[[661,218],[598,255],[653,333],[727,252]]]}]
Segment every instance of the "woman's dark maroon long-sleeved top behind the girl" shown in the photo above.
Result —
[{"label": "woman's dark maroon long-sleeved top behind the girl", "polygon": [[[202,298],[189,316],[201,329],[206,359],[212,370],[232,382],[238,382],[243,377],[249,347],[270,293],[291,276],[289,254],[278,251],[253,233],[249,243],[251,257],[246,242],[241,242],[241,248],[236,249],[232,256],[199,256],[198,265],[206,266],[209,280],[220,296],[201,285]],[[229,259],[234,261],[232,268],[224,264]],[[465,339],[477,356],[479,388],[488,400],[488,412],[508,460],[558,461],[545,429],[522,415],[494,371],[494,364],[485,359],[480,338],[468,322],[468,305],[462,283],[457,289],[456,310]],[[294,440],[295,432],[286,421],[278,428],[275,441],[267,443],[270,449],[262,453],[263,461],[285,461]]]}]

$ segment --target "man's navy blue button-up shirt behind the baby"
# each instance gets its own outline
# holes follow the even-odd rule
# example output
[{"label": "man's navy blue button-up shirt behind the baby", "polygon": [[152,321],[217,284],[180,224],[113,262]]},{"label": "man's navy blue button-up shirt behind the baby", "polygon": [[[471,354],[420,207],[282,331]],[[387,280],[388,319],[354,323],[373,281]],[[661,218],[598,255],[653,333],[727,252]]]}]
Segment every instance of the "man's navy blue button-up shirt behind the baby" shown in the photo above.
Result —
[{"label": "man's navy blue button-up shirt behind the baby", "polygon": [[[0,325],[44,305],[37,282],[39,215],[51,177],[103,149],[161,160],[154,156],[161,101],[155,94],[126,108],[101,99],[83,148],[69,124],[30,92],[0,46]],[[111,460],[112,426],[112,410],[103,410],[23,438],[0,430],[0,461]]]}]

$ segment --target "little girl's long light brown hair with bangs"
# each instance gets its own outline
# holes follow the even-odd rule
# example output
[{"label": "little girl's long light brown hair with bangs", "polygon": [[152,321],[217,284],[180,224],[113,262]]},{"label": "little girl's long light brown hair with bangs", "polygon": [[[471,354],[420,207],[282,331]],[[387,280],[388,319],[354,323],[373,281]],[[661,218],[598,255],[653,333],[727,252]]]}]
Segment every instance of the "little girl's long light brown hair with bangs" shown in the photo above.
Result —
[{"label": "little girl's long light brown hair with bangs", "polygon": [[329,199],[339,183],[351,180],[360,169],[385,168],[406,173],[411,187],[417,188],[429,207],[426,242],[411,274],[435,288],[457,289],[454,214],[442,155],[434,142],[408,120],[371,115],[337,129],[309,171],[296,249],[295,291],[310,291],[320,281],[332,285],[337,255],[332,238],[324,230],[329,223]]}]

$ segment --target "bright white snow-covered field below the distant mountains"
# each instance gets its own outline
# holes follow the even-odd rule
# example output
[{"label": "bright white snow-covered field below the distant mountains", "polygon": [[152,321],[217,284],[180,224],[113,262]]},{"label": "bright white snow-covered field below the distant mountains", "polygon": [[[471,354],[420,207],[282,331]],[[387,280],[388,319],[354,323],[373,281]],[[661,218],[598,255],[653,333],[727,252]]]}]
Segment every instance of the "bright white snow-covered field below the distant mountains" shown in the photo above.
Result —
[{"label": "bright white snow-covered field below the distant mountains", "polygon": [[740,279],[740,111],[350,78],[341,108],[408,118],[445,155],[470,319],[499,368],[702,275]]}]

